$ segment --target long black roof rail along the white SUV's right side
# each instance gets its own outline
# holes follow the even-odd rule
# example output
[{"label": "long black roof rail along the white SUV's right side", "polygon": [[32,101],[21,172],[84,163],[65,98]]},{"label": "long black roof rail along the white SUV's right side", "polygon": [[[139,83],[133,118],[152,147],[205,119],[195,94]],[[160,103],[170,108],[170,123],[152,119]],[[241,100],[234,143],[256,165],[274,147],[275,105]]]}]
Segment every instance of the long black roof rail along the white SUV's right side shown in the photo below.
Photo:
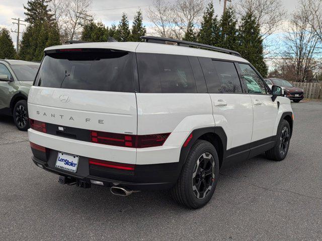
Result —
[{"label": "long black roof rail along the white SUV's right side", "polygon": [[167,44],[167,42],[169,42],[169,43],[177,43],[178,46],[184,46],[184,47],[190,47],[190,46],[200,47],[200,48],[211,49],[218,52],[241,57],[241,54],[233,50],[219,48],[219,47],[215,47],[207,44],[189,42],[185,40],[169,39],[169,38],[162,38],[162,37],[155,37],[155,36],[142,36],[141,39],[145,39],[145,42],[156,43],[156,44]]}]

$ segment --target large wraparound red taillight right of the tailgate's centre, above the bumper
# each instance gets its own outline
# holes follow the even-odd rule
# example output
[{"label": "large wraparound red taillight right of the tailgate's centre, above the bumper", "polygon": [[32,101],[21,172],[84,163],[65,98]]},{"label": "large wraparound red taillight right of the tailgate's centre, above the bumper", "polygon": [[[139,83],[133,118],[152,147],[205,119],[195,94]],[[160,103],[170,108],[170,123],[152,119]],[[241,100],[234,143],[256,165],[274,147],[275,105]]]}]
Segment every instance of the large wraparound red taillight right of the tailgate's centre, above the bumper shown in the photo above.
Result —
[{"label": "large wraparound red taillight right of the tailgate's centre, above the bumper", "polygon": [[91,141],[118,147],[147,148],[162,146],[169,135],[170,133],[136,136],[91,131]]}]

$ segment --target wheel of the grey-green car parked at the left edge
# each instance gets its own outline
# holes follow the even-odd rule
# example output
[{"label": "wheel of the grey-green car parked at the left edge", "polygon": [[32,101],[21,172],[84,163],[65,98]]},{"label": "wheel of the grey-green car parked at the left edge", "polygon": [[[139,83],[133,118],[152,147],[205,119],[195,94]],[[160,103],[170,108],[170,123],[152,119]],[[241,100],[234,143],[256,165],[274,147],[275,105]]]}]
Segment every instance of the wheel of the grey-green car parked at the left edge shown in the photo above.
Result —
[{"label": "wheel of the grey-green car parked at the left edge", "polygon": [[28,105],[26,100],[19,100],[13,110],[14,122],[19,131],[29,129]]}]

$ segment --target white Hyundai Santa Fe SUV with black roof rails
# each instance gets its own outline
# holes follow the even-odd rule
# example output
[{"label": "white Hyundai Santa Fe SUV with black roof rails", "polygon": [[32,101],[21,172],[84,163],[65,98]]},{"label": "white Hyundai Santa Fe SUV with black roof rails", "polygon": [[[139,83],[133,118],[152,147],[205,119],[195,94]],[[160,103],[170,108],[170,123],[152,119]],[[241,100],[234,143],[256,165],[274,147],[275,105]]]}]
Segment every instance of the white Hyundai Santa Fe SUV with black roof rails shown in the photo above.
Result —
[{"label": "white Hyundai Santa Fe SUV with black roof rails", "polygon": [[293,114],[279,86],[271,94],[237,52],[143,38],[45,49],[28,98],[36,165],[62,184],[171,189],[199,208],[222,166],[285,158]]}]

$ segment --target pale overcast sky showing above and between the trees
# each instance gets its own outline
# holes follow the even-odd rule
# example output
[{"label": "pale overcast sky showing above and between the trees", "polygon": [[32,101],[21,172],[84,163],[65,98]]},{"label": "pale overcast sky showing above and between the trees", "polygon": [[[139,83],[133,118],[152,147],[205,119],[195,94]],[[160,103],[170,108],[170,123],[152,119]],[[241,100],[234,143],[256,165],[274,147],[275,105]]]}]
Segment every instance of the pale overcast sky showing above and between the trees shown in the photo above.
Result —
[{"label": "pale overcast sky showing above and between the trees", "polygon": [[[169,0],[169,2],[172,1],[174,0]],[[232,0],[232,4],[234,1]],[[213,3],[216,14],[220,15],[223,11],[223,1],[219,4],[219,0],[213,0]],[[285,8],[288,13],[291,13],[297,0],[282,0],[282,3],[281,8]],[[148,28],[150,23],[145,12],[149,4],[151,4],[151,0],[93,0],[92,11],[89,14],[93,14],[96,21],[102,21],[105,25],[110,26],[112,23],[117,24],[120,21],[123,12],[126,12],[129,21],[132,21],[133,15],[140,8],[143,12],[144,24]],[[25,18],[23,5],[27,5],[27,0],[0,0],[0,27],[16,30],[17,25],[12,23],[12,18]],[[12,33],[12,39],[16,45],[17,34]]]}]

